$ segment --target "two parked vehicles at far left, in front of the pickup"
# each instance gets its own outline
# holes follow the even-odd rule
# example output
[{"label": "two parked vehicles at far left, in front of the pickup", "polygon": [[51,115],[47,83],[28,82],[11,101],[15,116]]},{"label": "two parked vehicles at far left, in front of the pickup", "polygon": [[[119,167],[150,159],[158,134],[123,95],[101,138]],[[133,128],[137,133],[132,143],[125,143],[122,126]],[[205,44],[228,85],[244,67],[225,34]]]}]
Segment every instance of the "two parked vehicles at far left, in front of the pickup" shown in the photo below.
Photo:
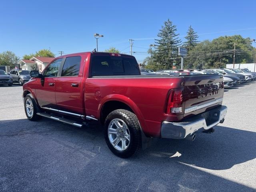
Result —
[{"label": "two parked vehicles at far left, in front of the pickup", "polygon": [[29,70],[11,70],[8,73],[4,70],[0,70],[0,85],[7,84],[8,86],[12,86],[13,83],[23,85],[28,82],[30,78]]}]

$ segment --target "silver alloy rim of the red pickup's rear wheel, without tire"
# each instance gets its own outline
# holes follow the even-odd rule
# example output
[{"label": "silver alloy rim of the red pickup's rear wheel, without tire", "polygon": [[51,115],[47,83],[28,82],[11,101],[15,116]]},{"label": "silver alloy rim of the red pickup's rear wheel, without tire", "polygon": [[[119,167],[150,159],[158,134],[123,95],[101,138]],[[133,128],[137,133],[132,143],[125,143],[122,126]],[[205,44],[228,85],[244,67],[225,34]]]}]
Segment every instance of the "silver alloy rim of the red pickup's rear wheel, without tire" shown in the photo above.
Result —
[{"label": "silver alloy rim of the red pickup's rear wheel, without tire", "polygon": [[121,119],[113,119],[108,125],[108,139],[114,148],[124,151],[130,144],[130,131]]}]

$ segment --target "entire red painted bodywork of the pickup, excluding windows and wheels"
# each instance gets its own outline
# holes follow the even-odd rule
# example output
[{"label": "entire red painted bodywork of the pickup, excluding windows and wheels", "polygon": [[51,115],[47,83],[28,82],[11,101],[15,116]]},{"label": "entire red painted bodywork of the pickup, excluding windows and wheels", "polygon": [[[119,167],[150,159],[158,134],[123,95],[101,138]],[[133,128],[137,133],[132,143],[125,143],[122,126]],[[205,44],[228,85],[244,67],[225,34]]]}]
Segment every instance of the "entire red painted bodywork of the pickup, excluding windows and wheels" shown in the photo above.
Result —
[{"label": "entire red painted bodywork of the pickup, excluding windows and wheels", "polygon": [[[50,105],[59,110],[96,119],[100,119],[102,106],[106,102],[123,102],[136,114],[144,133],[153,137],[160,137],[162,121],[178,122],[184,118],[184,109],[183,113],[179,115],[165,113],[170,89],[184,87],[184,106],[187,107],[204,103],[207,99],[212,100],[223,96],[222,87],[220,87],[218,93],[210,95],[207,99],[203,98],[203,96],[202,99],[194,95],[190,96],[191,92],[196,93],[198,89],[201,90],[200,86],[203,87],[204,84],[209,84],[209,77],[215,78],[212,80],[212,85],[219,84],[222,80],[219,75],[188,78],[182,76],[151,77],[139,75],[90,78],[90,58],[92,54],[106,55],[107,53],[84,52],[62,56],[64,59],[78,55],[82,57],[78,76],[45,78],[44,80],[32,78],[32,80],[24,84],[24,91],[28,90],[36,93],[35,97],[40,107]],[[133,56],[123,56],[134,58]],[[48,83],[52,81],[54,81],[55,86],[49,87]],[[72,87],[72,83],[77,83],[78,87]],[[207,109],[194,111],[187,114],[187,116],[195,115],[205,110]]]}]

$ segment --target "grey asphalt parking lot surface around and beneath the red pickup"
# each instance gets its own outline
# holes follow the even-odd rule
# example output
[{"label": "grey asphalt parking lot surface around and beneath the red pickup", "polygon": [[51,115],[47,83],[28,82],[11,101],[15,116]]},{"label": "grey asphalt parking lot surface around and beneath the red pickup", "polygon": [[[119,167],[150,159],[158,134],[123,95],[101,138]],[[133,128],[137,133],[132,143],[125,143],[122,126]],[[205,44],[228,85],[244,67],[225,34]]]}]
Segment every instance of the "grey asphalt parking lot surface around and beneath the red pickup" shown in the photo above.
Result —
[{"label": "grey asphalt parking lot surface around and beneath the red pickup", "polygon": [[21,94],[0,86],[0,192],[256,191],[256,82],[225,90],[214,134],[156,139],[128,159],[110,152],[98,124],[27,120]]}]

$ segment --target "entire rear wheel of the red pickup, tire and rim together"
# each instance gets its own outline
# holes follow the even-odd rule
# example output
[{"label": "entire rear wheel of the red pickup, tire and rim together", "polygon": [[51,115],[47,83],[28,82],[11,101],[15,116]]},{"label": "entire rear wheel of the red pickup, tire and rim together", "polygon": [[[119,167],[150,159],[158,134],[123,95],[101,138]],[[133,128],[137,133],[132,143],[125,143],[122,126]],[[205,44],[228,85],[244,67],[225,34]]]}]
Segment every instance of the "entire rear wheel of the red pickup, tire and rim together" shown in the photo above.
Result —
[{"label": "entire rear wheel of the red pickup, tire and rim together", "polygon": [[141,132],[137,116],[124,109],[108,114],[104,124],[108,148],[119,157],[128,158],[140,148]]}]

